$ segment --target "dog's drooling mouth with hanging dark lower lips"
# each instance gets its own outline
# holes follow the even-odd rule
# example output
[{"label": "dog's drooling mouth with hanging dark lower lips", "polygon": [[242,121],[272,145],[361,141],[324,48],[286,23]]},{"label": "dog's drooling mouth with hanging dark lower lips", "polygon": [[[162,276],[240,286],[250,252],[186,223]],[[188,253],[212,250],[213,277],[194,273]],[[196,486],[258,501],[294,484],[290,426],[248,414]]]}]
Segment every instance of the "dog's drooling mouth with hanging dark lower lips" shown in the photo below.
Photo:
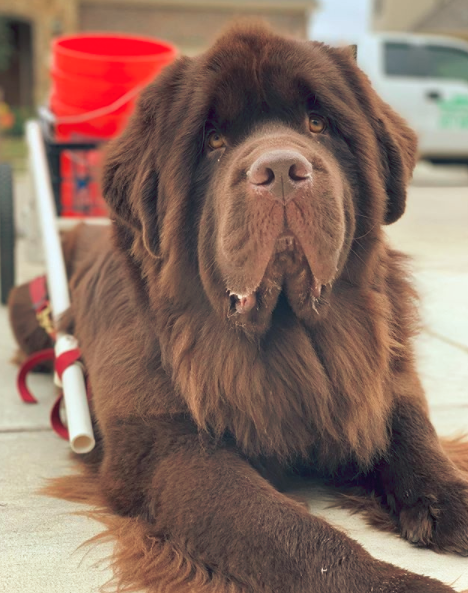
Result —
[{"label": "dog's drooling mouth with hanging dark lower lips", "polygon": [[314,276],[295,235],[283,233],[276,240],[259,286],[244,294],[227,291],[228,317],[241,325],[258,323],[274,311],[284,294],[297,316],[310,318],[318,315],[329,286],[330,283],[325,285]]}]

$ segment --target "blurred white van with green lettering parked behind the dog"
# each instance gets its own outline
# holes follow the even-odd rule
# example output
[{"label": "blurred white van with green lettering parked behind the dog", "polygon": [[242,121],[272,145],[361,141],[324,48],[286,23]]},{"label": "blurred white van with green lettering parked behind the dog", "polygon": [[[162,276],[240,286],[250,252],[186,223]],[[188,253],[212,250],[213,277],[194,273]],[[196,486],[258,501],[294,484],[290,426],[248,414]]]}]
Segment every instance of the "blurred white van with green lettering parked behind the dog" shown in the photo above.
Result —
[{"label": "blurred white van with green lettering parked behind the dog", "polygon": [[358,44],[358,64],[417,132],[422,158],[468,163],[468,43],[381,33]]}]

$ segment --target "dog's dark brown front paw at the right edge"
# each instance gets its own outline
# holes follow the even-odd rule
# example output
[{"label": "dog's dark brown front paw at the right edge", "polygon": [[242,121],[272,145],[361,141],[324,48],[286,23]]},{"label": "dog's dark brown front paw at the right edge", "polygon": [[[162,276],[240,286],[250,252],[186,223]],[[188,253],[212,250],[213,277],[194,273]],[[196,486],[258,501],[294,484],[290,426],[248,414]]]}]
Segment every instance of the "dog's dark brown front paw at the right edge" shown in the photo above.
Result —
[{"label": "dog's dark brown front paw at the right edge", "polygon": [[468,483],[454,480],[425,492],[400,508],[402,536],[417,546],[468,556]]}]

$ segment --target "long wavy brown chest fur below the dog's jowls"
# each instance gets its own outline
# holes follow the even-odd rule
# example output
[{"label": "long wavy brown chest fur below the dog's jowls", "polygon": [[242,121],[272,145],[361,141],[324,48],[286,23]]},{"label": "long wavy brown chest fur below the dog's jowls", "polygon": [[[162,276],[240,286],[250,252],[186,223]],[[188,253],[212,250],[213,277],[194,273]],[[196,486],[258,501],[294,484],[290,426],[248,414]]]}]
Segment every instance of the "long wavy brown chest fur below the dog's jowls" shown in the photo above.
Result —
[{"label": "long wavy brown chest fur below the dog's jowls", "polygon": [[386,299],[337,299],[310,332],[294,317],[274,322],[261,343],[232,330],[220,340],[215,319],[174,315],[163,357],[196,423],[231,433],[247,455],[287,460],[313,448],[327,468],[349,458],[365,467],[387,447],[391,406],[388,326],[366,314],[375,300]]}]

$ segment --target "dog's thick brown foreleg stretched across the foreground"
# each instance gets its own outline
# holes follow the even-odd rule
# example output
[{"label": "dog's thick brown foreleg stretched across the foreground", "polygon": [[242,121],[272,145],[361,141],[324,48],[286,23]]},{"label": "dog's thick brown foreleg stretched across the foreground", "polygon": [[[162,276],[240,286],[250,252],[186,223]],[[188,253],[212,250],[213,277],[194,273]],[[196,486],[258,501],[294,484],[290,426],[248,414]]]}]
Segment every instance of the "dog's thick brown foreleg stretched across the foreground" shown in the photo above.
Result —
[{"label": "dog's thick brown foreleg stretched across the foreground", "polygon": [[[114,511],[143,518],[155,542],[223,579],[217,593],[452,591],[373,559],[275,490],[235,448],[216,445],[181,418],[114,421],[103,432],[101,483]],[[159,591],[156,559],[154,566],[148,585]],[[178,585],[167,590],[208,590],[182,582],[194,571],[184,577],[174,569]]]}]

